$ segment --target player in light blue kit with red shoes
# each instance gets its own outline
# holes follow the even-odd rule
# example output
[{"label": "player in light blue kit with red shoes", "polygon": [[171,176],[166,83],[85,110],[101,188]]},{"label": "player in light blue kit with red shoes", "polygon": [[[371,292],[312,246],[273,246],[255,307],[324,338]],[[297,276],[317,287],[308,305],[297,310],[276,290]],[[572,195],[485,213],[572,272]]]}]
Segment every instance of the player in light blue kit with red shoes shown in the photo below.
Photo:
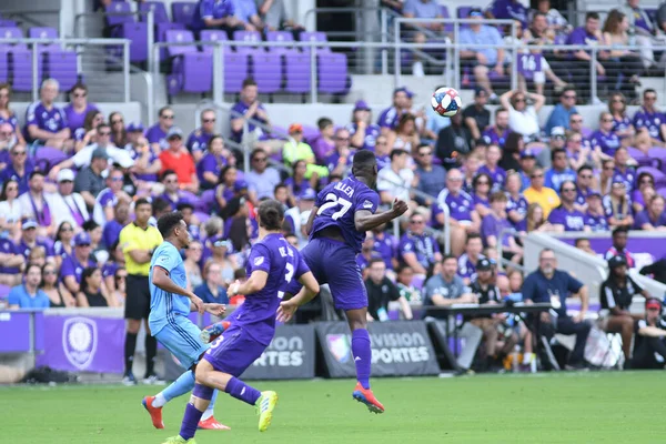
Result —
[{"label": "player in light blue kit with red shoes", "polygon": [[[164,242],[152,255],[149,273],[150,316],[148,323],[152,335],[162,343],[186,370],[157,396],[145,396],[143,406],[150,413],[153,426],[164,428],[162,406],[172,398],[194,389],[193,369],[201,355],[210,347],[202,341],[201,330],[190,319],[190,311],[204,311],[220,316],[223,304],[204,304],[186,289],[186,273],[180,251],[190,244],[188,225],[180,212],[167,213],[158,221],[158,230]],[[201,428],[229,430],[213,417],[214,402],[198,424]]]}]

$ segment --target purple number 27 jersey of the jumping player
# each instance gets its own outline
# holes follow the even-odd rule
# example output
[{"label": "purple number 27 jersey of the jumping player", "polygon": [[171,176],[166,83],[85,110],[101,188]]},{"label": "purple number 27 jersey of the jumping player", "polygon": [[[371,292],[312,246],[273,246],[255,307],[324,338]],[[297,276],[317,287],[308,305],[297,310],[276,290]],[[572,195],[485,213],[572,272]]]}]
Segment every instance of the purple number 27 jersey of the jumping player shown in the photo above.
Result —
[{"label": "purple number 27 jersey of the jumping player", "polygon": [[329,226],[337,226],[345,243],[356,253],[361,252],[361,244],[365,240],[365,232],[356,230],[354,215],[356,211],[377,211],[380,195],[365,183],[353,175],[337,183],[331,183],[316,196],[315,206],[319,208],[312,225],[310,239]]}]

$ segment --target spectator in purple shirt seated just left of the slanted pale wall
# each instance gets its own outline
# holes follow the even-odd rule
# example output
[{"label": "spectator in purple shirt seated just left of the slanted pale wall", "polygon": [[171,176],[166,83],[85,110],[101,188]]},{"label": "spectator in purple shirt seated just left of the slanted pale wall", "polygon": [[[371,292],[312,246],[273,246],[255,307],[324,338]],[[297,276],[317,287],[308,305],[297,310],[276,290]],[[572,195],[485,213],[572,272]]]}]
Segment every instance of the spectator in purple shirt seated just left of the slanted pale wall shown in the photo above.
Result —
[{"label": "spectator in purple shirt seated just left of the slanted pale wall", "polygon": [[502,191],[491,194],[491,211],[481,221],[481,235],[485,246],[497,249],[501,244],[505,258],[519,262],[523,249],[512,234],[513,226],[506,214],[507,200]]}]

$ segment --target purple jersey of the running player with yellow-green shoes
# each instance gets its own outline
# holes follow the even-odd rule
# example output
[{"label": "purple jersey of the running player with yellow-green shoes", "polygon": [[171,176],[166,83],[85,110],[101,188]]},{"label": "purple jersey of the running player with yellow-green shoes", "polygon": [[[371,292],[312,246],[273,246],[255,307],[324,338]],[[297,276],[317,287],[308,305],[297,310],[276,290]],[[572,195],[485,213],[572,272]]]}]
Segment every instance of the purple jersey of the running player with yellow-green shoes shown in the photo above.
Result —
[{"label": "purple jersey of the running player with yellow-green shoes", "polygon": [[245,302],[231,315],[232,325],[254,341],[269,345],[275,331],[275,311],[284,296],[286,285],[297,281],[310,269],[301,253],[279,233],[266,235],[250,251],[245,273],[255,271],[269,274],[265,286],[254,294],[246,294]]}]

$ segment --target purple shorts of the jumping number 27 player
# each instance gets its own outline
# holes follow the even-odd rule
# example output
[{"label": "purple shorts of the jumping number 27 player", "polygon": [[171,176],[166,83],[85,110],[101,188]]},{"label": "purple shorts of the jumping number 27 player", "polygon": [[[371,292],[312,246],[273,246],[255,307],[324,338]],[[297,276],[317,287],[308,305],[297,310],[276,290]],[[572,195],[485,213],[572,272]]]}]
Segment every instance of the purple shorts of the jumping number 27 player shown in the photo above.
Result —
[{"label": "purple shorts of the jumping number 27 player", "polygon": [[336,309],[356,310],[367,306],[367,292],[356,263],[356,253],[349,245],[317,238],[310,241],[301,254],[317,282],[327,283],[331,287]]}]

